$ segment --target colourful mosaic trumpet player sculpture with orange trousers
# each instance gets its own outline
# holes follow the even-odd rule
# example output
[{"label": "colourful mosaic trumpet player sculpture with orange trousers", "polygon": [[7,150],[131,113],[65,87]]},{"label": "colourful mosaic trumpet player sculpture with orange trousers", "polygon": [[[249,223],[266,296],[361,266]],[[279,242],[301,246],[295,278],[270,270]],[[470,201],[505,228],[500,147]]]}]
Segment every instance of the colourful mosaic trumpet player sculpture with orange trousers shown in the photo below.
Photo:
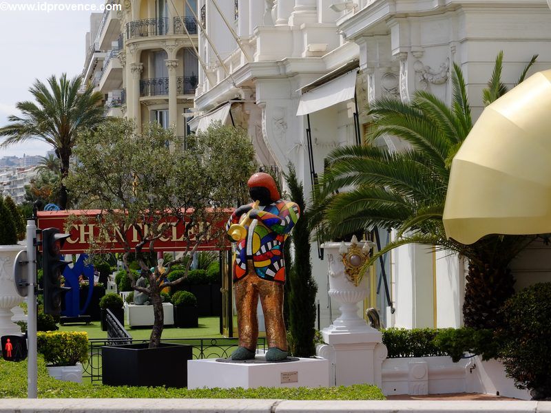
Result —
[{"label": "colourful mosaic trumpet player sculpture with orange trousers", "polygon": [[236,243],[233,257],[233,290],[238,313],[239,347],[233,360],[255,357],[258,342],[256,307],[260,297],[268,340],[267,361],[287,358],[283,320],[285,268],[283,246],[298,221],[295,202],[280,199],[273,178],[255,173],[247,182],[254,204],[242,205],[231,214],[226,230]]}]

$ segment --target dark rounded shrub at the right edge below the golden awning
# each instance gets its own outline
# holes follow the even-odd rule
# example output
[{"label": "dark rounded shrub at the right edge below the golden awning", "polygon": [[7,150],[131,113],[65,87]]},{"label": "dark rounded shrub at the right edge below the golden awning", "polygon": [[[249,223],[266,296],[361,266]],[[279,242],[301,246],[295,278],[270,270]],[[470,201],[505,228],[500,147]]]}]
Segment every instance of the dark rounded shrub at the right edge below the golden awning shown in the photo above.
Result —
[{"label": "dark rounded shrub at the right edge below the golden awning", "polygon": [[501,361],[517,388],[537,400],[551,396],[551,283],[530,286],[501,309]]}]

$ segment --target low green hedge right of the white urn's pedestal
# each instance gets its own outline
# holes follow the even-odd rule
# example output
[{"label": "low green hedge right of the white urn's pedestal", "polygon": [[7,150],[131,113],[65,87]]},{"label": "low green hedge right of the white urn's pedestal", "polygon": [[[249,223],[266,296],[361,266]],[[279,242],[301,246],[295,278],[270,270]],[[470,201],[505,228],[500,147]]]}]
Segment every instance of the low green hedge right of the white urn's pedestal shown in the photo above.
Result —
[{"label": "low green hedge right of the white urn's pedestal", "polygon": [[473,328],[387,328],[382,331],[388,358],[450,356],[457,362],[464,353],[482,359],[497,357],[499,341],[492,330]]}]

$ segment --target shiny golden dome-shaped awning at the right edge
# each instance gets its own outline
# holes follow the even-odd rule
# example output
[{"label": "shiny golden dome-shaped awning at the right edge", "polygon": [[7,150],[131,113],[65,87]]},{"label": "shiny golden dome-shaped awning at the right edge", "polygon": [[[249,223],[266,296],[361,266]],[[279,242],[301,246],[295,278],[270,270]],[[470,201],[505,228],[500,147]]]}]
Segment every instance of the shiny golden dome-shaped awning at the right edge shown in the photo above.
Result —
[{"label": "shiny golden dome-shaped awning at the right edge", "polygon": [[486,107],[453,158],[446,235],[551,232],[551,70]]}]

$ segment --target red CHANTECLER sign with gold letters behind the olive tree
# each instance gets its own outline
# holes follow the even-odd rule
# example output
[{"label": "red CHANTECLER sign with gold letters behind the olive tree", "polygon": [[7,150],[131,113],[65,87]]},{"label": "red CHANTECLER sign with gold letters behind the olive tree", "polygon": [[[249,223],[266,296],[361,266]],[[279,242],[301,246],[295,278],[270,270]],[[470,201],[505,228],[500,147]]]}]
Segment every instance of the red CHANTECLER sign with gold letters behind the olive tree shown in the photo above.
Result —
[{"label": "red CHANTECLER sign with gold letters behind the olive tree", "polygon": [[[94,220],[90,222],[76,222],[70,226],[68,231],[65,231],[65,222],[69,215],[76,215],[76,217],[90,217],[94,218],[99,210],[67,210],[67,211],[39,211],[38,213],[38,223],[37,227],[39,229],[46,229],[54,227],[59,229],[62,233],[69,233],[70,237],[65,240],[65,244],[61,249],[62,254],[79,254],[84,253],[87,248],[90,246],[91,240],[100,240],[100,237],[103,237],[99,242],[102,246],[105,246],[105,249],[113,253],[123,253],[124,246],[120,241],[120,232],[119,236],[114,236],[114,233],[111,235],[101,234],[98,226],[94,223]],[[227,217],[231,214],[231,210],[227,211],[227,214],[223,214]],[[176,219],[174,220],[176,222]],[[225,220],[220,220],[220,222],[214,223],[214,228],[220,229],[224,226]],[[201,223],[198,224],[199,227],[202,226]],[[147,231],[147,223],[140,224],[141,231]],[[189,240],[189,245],[184,240],[184,231],[185,223],[178,222],[177,224],[172,224],[167,229],[165,236],[159,238],[155,241],[156,251],[187,251],[187,248],[191,249],[195,245],[194,237],[191,237]],[[193,233],[194,231],[191,231]],[[212,230],[211,233],[216,231]],[[127,240],[129,240],[130,248],[135,248],[139,242],[138,231],[135,228],[129,228],[126,231]],[[148,245],[144,246],[144,250],[148,248]],[[228,250],[230,248],[229,242],[223,241],[220,242],[218,237],[214,237],[211,234],[203,237],[200,242],[197,251],[220,251]]]}]

